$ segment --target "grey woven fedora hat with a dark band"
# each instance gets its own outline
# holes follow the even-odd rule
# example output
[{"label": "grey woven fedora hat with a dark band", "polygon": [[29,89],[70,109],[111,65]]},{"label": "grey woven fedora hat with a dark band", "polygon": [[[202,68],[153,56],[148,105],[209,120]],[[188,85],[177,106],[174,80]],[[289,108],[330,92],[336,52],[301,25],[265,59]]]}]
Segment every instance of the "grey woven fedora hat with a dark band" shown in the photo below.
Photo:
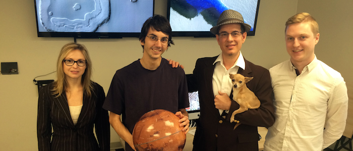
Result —
[{"label": "grey woven fedora hat with a dark band", "polygon": [[214,26],[211,28],[211,33],[216,35],[217,30],[220,26],[225,25],[225,24],[231,24],[231,23],[243,24],[246,32],[249,32],[251,29],[251,26],[249,24],[244,23],[244,19],[243,19],[242,14],[240,14],[239,12],[234,11],[234,10],[225,10],[219,16],[218,21],[217,21],[217,26]]}]

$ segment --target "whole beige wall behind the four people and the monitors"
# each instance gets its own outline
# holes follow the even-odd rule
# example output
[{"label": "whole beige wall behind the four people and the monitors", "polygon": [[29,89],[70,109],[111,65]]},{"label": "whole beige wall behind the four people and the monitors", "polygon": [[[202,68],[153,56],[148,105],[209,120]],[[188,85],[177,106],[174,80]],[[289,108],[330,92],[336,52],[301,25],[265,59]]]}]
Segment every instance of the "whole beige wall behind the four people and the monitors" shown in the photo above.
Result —
[{"label": "whole beige wall behind the four people and the monitors", "polygon": [[[350,67],[350,71],[345,72],[343,77],[351,80],[352,64],[349,61],[352,45],[348,44],[352,41],[348,36],[353,31],[351,1],[347,0],[342,4],[335,1],[339,3],[335,7],[321,1],[313,2],[315,3],[303,0],[262,0],[256,35],[248,37],[243,44],[245,58],[266,68],[288,59],[284,44],[284,23],[297,13],[298,5],[301,6],[298,10],[313,11],[313,16],[317,16],[319,20],[322,34],[316,51],[318,58],[340,72],[344,72],[344,67]],[[331,7],[327,12],[320,10],[321,7],[326,8],[326,5]],[[155,6],[158,9],[156,14],[166,14],[165,0],[155,0]],[[315,7],[319,8],[312,9]],[[325,18],[324,13],[336,12],[342,16],[338,19],[334,15],[329,19]],[[348,21],[343,20],[349,16],[346,13],[350,13]],[[0,62],[18,62],[19,67],[19,74],[0,74],[0,150],[37,150],[38,92],[32,81],[38,75],[54,71],[61,47],[74,39],[37,37],[33,1],[0,1],[0,15]],[[331,27],[331,20],[343,22],[342,28],[347,31],[336,34],[341,29]],[[192,73],[197,58],[220,53],[215,38],[173,37],[173,40],[175,45],[163,57],[181,62],[185,65],[186,73]],[[138,38],[78,39],[77,42],[87,46],[93,61],[93,80],[104,88],[105,93],[115,70],[142,57]],[[51,74],[37,80],[54,77],[55,74]],[[112,130],[111,141],[119,141],[118,138]]]}]

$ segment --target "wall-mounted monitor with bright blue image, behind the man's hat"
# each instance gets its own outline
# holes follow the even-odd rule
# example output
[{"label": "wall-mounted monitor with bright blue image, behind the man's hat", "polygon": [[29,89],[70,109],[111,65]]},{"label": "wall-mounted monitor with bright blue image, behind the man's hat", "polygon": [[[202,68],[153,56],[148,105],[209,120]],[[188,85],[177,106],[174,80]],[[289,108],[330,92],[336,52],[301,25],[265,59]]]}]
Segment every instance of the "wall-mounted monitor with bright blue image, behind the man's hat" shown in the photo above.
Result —
[{"label": "wall-mounted monitor with bright blue image, behind the man's hat", "polygon": [[235,10],[252,28],[248,36],[255,35],[260,0],[168,0],[167,18],[173,36],[214,37],[210,32],[217,25],[220,14]]}]

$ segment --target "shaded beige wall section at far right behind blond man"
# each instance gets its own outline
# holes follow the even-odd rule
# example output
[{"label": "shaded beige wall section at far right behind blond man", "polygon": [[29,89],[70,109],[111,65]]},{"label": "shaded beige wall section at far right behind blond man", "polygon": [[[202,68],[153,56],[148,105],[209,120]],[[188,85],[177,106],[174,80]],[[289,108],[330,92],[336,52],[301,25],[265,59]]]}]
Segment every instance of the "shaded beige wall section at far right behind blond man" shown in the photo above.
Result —
[{"label": "shaded beige wall section at far right behind blond man", "polygon": [[[347,83],[353,82],[353,1],[299,0],[297,12],[311,14],[319,24],[315,54]],[[353,94],[351,94],[353,96]]]}]

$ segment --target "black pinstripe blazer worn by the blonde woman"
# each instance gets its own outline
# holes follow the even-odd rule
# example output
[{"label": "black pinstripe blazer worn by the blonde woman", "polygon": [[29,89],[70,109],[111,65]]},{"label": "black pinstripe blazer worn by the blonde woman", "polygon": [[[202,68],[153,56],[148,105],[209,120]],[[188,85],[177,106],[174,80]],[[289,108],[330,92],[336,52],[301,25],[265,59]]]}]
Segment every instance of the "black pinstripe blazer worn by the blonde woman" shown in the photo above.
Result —
[{"label": "black pinstripe blazer worn by the blonde woman", "polygon": [[[83,106],[74,125],[66,93],[52,95],[52,84],[43,87],[38,98],[37,137],[39,150],[109,150],[110,126],[108,111],[102,108],[103,88],[93,83],[91,97],[83,94]],[[51,133],[51,126],[53,133]],[[93,126],[97,139],[93,133]]]}]

